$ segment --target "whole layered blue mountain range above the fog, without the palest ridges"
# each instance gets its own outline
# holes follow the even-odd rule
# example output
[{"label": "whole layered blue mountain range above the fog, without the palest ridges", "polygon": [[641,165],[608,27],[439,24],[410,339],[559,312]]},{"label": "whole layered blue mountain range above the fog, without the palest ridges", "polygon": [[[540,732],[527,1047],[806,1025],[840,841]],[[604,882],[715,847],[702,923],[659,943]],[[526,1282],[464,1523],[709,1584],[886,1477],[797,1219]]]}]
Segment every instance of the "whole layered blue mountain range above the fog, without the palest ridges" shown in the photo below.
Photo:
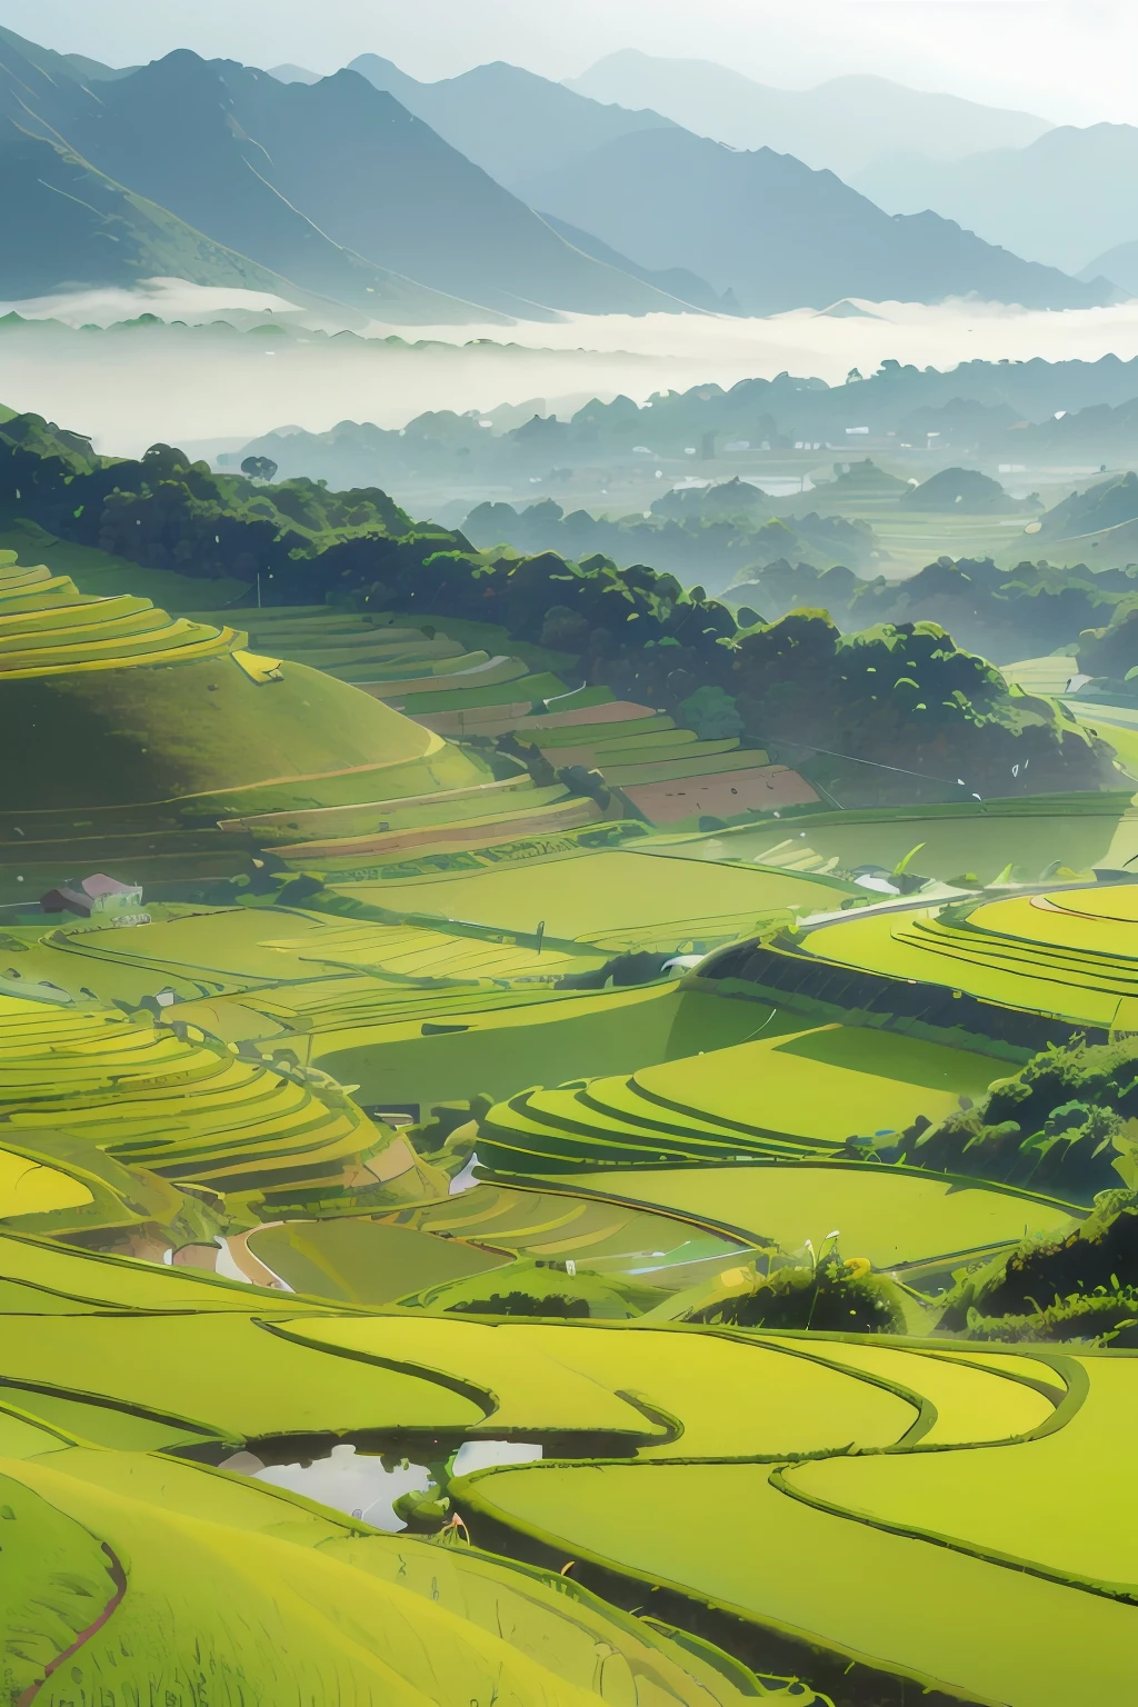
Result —
[{"label": "whole layered blue mountain range above the fog, without the palest ridges", "polygon": [[935,213],[891,218],[790,155],[515,67],[280,72],[188,50],[116,72],[0,34],[0,297],[249,280],[411,324],[1111,297]]}]

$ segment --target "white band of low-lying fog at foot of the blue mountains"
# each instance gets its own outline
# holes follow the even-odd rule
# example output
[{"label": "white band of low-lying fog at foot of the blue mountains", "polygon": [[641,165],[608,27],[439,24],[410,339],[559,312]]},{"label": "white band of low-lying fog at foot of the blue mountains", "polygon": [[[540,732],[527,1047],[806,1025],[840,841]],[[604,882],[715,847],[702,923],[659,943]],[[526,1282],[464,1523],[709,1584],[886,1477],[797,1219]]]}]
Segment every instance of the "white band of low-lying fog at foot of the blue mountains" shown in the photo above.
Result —
[{"label": "white band of low-lying fog at foot of the blue mountains", "polygon": [[[730,386],[783,369],[839,384],[850,369],[870,374],[889,357],[947,369],[973,357],[1138,355],[1138,300],[1063,312],[860,302],[838,316],[800,309],[769,319],[566,316],[507,328],[392,328],[331,306],[297,309],[254,292],[152,280],[135,292],[0,304],[0,314],[12,311],[63,324],[0,331],[0,403],[36,410],[121,454],[159,439],[227,449],[285,423],[322,432],[346,418],[399,427],[423,410],[527,399],[548,410],[618,393],[643,401],[653,391]],[[145,312],[189,324],[97,329]],[[229,321],[237,333],[200,329],[208,321]],[[266,348],[263,338],[242,336],[273,321],[295,338]],[[357,336],[321,336],[346,328]]]}]

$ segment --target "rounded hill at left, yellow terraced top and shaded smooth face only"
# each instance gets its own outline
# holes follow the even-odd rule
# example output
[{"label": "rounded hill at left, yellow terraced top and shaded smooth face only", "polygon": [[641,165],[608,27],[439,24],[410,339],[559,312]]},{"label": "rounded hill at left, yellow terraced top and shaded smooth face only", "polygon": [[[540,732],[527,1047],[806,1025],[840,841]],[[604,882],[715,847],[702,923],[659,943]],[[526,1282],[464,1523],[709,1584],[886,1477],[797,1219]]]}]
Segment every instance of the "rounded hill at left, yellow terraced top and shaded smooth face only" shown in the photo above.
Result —
[{"label": "rounded hill at left, yellow terraced top and shaded smooth face only", "polygon": [[249,789],[321,804],[324,780],[357,799],[485,780],[457,754],[437,773],[438,736],[304,664],[256,659],[244,640],[148,599],[89,599],[48,568],[0,565],[0,700],[20,729],[0,761],[5,807]]}]

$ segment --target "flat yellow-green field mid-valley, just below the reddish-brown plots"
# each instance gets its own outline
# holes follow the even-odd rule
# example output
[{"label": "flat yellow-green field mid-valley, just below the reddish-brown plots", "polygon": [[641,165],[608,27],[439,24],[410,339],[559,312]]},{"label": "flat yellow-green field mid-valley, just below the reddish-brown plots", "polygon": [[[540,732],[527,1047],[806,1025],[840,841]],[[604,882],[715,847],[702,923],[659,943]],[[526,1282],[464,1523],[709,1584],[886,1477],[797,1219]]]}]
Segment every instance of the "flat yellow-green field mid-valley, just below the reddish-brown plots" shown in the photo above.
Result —
[{"label": "flat yellow-green field mid-valley, just below the reddish-brown plots", "polygon": [[[471,876],[438,876],[413,881],[336,884],[341,893],[382,906],[404,906],[440,918],[462,918],[505,930],[532,932],[541,922],[549,935],[619,935],[643,946],[671,935],[679,947],[688,925],[722,935],[747,915],[780,908],[821,910],[829,898],[822,884],[783,872],[742,869],[703,871],[674,860],[645,860],[631,852],[597,852],[531,860],[524,867],[500,867]],[[848,893],[831,891],[834,905]],[[669,927],[672,922],[682,930]],[[746,927],[744,927],[746,930]]]}]

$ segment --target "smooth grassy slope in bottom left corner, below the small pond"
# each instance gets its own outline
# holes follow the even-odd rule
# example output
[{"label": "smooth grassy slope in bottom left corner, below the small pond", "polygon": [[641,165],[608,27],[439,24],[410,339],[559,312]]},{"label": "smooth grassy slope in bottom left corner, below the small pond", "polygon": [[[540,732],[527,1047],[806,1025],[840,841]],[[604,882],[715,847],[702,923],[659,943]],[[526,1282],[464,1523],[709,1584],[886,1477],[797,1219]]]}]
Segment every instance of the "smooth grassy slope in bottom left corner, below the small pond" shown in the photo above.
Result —
[{"label": "smooth grassy slope in bottom left corner, below the small pond", "polygon": [[[689,1654],[554,1576],[377,1536],[261,1483],[82,1448],[5,1470],[17,1564],[31,1567],[20,1687],[34,1690],[82,1632],[60,1671],[67,1698],[78,1687],[188,1700],[203,1676],[234,1700],[300,1690],[312,1707],[599,1707],[614,1680],[636,1700],[740,1707],[759,1688],[711,1649]],[[49,1681],[46,1698],[65,1697]]]}]

